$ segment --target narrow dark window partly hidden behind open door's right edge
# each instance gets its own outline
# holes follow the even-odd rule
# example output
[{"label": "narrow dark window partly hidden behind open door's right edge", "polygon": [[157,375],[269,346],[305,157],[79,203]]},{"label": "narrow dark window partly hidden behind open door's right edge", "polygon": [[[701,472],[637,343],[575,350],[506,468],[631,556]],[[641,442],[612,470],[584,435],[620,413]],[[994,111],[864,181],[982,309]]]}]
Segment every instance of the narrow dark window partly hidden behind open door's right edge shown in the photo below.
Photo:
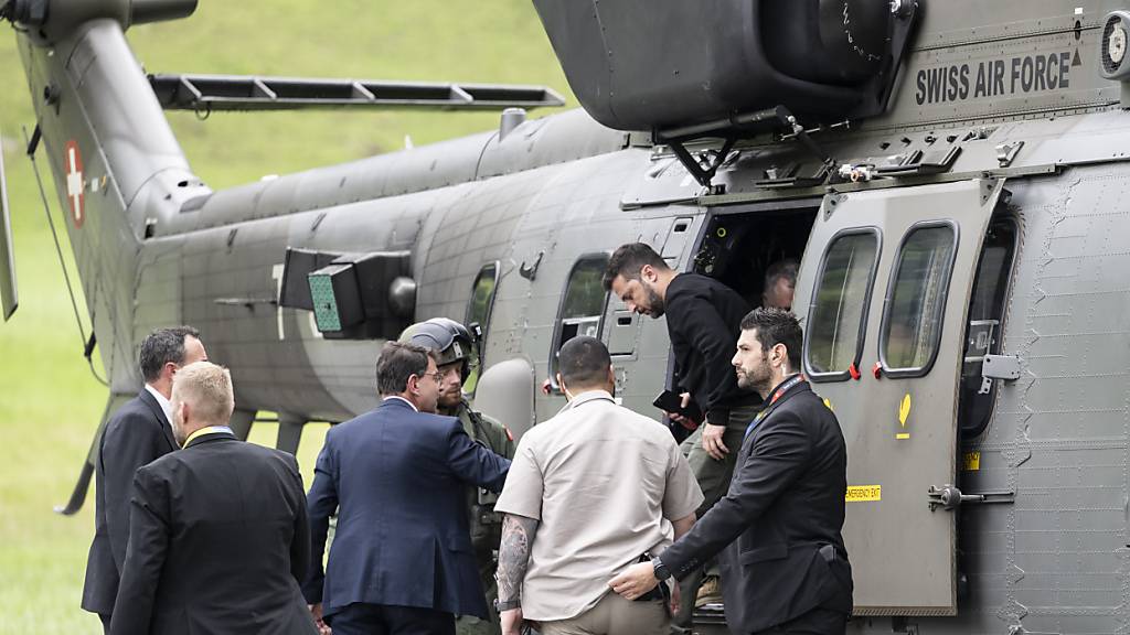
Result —
[{"label": "narrow dark window partly hidden behind open door's right edge", "polygon": [[985,355],[1000,354],[1005,298],[1018,233],[1015,219],[993,220],[981,250],[977,276],[973,280],[957,419],[962,436],[966,438],[980,435],[992,416],[997,382],[981,376],[981,364]]}]

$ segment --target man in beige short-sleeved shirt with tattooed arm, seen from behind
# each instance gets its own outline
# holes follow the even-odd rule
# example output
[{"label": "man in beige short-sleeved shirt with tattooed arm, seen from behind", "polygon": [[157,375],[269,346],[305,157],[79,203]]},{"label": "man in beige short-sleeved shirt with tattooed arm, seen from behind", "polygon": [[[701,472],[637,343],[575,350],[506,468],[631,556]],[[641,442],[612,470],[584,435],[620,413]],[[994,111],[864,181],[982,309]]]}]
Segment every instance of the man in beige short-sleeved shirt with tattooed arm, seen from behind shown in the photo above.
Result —
[{"label": "man in beige short-sleeved shirt with tattooed arm, seen from behind", "polygon": [[662,595],[625,600],[609,574],[689,531],[702,490],[671,433],[615,402],[600,340],[573,338],[558,355],[568,405],[522,437],[495,504],[503,635],[523,620],[542,635],[666,635]]}]

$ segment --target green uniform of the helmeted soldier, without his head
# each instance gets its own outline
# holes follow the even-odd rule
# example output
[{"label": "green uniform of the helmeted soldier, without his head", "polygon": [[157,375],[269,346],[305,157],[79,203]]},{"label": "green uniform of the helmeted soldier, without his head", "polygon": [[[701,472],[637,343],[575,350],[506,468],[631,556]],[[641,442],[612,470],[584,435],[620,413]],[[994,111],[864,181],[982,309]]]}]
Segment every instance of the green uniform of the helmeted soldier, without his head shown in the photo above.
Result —
[{"label": "green uniform of the helmeted soldier, without his head", "polygon": [[[463,429],[471,438],[481,443],[495,454],[507,459],[514,458],[514,440],[497,420],[470,409],[467,400],[460,403],[454,412],[463,423]],[[477,420],[476,420],[477,419]],[[487,593],[487,606],[490,607],[490,621],[473,616],[460,616],[455,620],[458,635],[498,635],[498,616],[494,612],[494,600],[498,595],[495,583],[495,558],[498,543],[502,541],[502,516],[494,512],[498,495],[493,492],[468,487],[467,507],[470,514],[471,547],[479,564],[479,577]]]}]

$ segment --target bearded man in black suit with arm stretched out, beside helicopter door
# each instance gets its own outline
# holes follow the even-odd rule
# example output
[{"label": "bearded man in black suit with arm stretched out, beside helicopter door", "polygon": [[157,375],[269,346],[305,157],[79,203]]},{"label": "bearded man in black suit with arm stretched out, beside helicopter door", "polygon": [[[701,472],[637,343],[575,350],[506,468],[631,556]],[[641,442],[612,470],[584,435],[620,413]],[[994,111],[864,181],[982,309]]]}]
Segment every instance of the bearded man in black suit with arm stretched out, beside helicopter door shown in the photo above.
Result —
[{"label": "bearded man in black suit with arm stretched out, beside helicopter door", "polygon": [[847,458],[835,415],[800,368],[797,318],[756,308],[741,321],[738,383],[767,406],[748,427],[724,498],[651,563],[609,582],[628,599],[684,577],[721,551],[725,620],[733,633],[844,633],[851,565],[841,530]]}]

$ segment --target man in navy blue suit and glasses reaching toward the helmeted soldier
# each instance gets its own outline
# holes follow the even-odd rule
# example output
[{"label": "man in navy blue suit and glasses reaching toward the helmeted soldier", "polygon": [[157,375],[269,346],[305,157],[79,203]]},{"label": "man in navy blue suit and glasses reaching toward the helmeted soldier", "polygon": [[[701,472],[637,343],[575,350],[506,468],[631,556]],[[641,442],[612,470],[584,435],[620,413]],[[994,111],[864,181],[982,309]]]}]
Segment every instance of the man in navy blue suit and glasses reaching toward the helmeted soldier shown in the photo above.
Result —
[{"label": "man in navy blue suit and glasses reaching toward the helmeted soldier", "polygon": [[334,635],[454,634],[454,614],[489,615],[466,487],[499,492],[510,461],[471,441],[459,419],[429,414],[441,380],[433,355],[385,343],[376,363],[383,402],[325,435],[308,495],[314,574],[304,591]]}]

